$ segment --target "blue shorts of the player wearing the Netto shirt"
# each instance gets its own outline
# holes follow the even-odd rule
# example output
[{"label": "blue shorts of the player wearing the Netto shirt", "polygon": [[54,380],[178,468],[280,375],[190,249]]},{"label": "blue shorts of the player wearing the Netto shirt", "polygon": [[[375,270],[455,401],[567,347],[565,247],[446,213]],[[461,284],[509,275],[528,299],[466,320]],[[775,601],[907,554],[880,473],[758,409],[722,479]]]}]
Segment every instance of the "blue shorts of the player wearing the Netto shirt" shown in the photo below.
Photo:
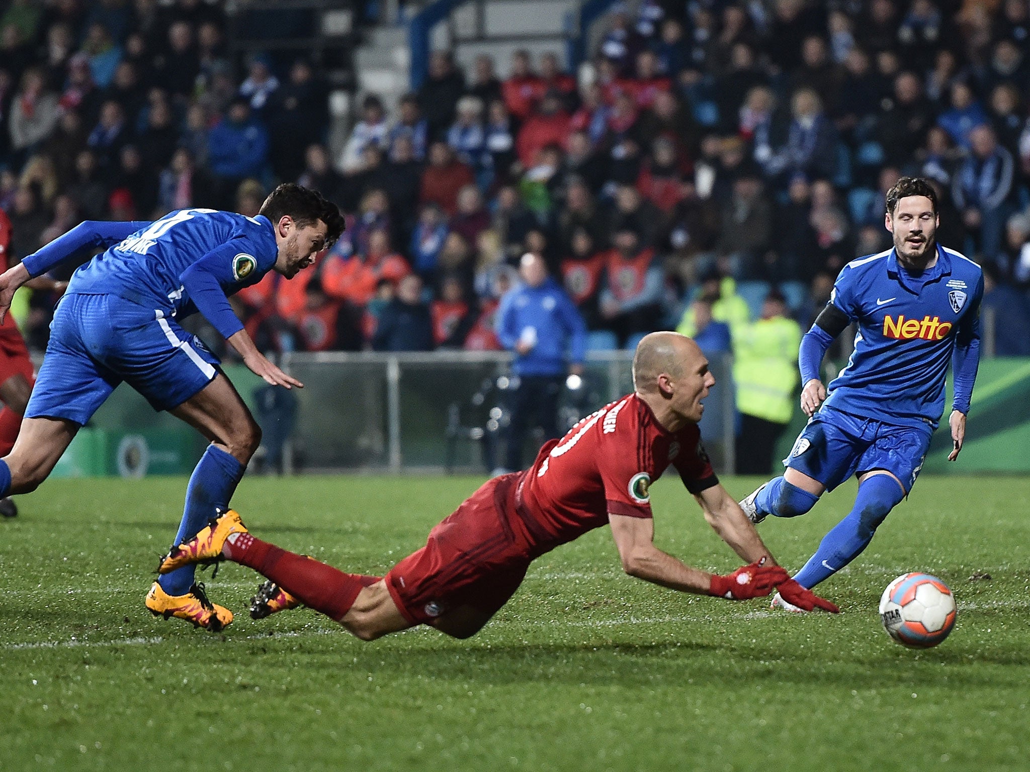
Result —
[{"label": "blue shorts of the player wearing the Netto shirt", "polygon": [[883,423],[824,407],[797,437],[783,463],[833,490],[852,475],[885,469],[905,493],[916,484],[933,429]]}]

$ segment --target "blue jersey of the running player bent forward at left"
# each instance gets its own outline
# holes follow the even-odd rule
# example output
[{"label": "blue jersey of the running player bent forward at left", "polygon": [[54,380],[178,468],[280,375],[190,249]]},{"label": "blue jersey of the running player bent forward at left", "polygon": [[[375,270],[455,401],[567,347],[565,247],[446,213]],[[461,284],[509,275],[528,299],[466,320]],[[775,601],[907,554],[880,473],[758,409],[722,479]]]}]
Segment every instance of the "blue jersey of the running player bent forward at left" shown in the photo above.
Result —
[{"label": "blue jersey of the running player bent forward at left", "polygon": [[213,209],[181,209],[137,231],[72,275],[69,293],[115,294],[168,316],[197,309],[183,273],[207,256],[203,268],[227,295],[254,284],[275,265],[271,221]]}]

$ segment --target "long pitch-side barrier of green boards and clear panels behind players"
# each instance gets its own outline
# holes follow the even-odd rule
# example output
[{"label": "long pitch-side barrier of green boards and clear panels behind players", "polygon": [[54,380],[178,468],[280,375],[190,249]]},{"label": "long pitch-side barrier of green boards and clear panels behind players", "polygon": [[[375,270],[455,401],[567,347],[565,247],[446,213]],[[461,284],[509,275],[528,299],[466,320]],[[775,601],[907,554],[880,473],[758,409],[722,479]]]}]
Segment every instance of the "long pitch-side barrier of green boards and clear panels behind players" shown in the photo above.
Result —
[{"label": "long pitch-side barrier of green boards and clear panels behind players", "polygon": [[[562,423],[571,425],[630,391],[630,358],[627,351],[591,353],[579,388],[564,391]],[[506,353],[295,353],[281,363],[304,389],[273,389],[242,364],[224,366],[264,429],[255,470],[483,473],[496,465],[515,386]],[[718,384],[701,424],[720,473],[733,469],[731,366],[729,356],[712,362]],[[803,424],[795,411],[781,457]],[[943,426],[924,473],[1030,473],[1030,357],[981,362],[958,463],[946,460],[950,449]],[[188,475],[203,451],[197,432],[154,413],[123,385],[79,431],[55,473]]]}]

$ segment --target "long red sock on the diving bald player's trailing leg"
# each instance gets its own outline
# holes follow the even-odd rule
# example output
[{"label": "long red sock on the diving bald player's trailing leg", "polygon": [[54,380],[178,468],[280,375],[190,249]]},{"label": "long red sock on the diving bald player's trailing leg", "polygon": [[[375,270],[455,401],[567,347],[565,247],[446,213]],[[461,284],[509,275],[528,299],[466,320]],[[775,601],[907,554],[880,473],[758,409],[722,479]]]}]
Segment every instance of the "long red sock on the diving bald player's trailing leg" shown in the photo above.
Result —
[{"label": "long red sock on the diving bald player's trailing leg", "polygon": [[241,533],[227,541],[226,557],[253,568],[299,598],[305,605],[339,622],[354,605],[357,594],[380,580],[360,573],[344,573],[313,558],[286,552],[268,541]]}]

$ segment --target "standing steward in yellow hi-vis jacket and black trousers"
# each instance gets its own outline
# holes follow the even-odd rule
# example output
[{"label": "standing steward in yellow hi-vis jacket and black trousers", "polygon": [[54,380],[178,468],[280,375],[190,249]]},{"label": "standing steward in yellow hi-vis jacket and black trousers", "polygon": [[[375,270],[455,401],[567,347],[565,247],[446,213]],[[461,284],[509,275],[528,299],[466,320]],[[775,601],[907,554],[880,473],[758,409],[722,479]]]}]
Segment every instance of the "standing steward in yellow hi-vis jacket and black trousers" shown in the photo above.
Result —
[{"label": "standing steward in yellow hi-vis jacket and black trousers", "polygon": [[742,475],[772,470],[776,442],[794,415],[801,327],[786,313],[783,295],[774,291],[765,299],[761,318],[733,329],[733,381],[741,413],[736,470]]}]

